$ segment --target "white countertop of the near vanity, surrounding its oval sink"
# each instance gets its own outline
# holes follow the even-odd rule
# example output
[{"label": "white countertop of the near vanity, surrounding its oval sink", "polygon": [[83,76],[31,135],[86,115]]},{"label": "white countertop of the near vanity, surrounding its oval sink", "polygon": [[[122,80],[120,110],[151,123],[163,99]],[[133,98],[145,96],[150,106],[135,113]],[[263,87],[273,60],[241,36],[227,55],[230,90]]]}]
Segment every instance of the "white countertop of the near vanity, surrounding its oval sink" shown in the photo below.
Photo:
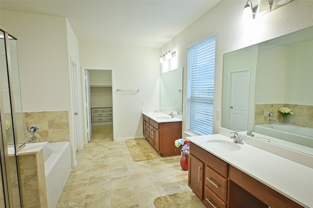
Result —
[{"label": "white countertop of the near vanity, surrounding its oval sink", "polygon": [[[221,134],[187,137],[197,146],[306,208],[313,208],[313,168],[248,144],[235,151],[221,150],[208,140],[232,141]],[[313,162],[313,161],[312,161]]]}]

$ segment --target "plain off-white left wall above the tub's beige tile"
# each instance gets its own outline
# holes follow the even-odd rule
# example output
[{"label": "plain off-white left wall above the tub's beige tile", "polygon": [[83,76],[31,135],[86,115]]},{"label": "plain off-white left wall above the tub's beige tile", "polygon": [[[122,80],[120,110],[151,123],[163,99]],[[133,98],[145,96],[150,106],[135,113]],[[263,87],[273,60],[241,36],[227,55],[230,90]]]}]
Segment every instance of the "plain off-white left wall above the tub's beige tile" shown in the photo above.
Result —
[{"label": "plain off-white left wall above the tub's beige tile", "polygon": [[66,19],[5,10],[0,15],[0,24],[18,38],[23,111],[69,110]]}]

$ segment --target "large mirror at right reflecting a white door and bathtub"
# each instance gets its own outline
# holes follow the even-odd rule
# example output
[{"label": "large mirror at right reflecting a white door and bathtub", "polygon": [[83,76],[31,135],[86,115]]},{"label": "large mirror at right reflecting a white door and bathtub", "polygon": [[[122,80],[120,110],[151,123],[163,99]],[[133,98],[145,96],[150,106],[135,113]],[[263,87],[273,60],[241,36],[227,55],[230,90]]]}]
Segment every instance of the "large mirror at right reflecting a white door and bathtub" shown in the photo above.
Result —
[{"label": "large mirror at right reflecting a white door and bathtub", "polygon": [[223,76],[222,127],[313,155],[313,27],[224,54]]}]

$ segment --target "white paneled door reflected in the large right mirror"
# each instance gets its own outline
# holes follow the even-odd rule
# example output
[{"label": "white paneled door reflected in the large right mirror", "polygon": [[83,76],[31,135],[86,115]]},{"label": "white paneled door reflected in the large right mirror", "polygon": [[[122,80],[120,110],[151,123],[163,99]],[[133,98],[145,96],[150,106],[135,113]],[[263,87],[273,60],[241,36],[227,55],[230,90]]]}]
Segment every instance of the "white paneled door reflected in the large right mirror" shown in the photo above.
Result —
[{"label": "white paneled door reflected in the large right mirror", "polygon": [[248,128],[250,70],[230,73],[230,129],[246,131]]}]

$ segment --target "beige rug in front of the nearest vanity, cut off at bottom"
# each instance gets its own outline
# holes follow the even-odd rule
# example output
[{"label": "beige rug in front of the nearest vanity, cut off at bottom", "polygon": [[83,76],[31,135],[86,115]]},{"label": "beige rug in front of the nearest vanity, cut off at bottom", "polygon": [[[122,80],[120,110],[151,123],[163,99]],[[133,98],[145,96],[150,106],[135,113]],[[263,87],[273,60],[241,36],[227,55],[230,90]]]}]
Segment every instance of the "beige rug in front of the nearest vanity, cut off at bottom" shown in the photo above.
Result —
[{"label": "beige rug in front of the nearest vanity, cut off at bottom", "polygon": [[153,203],[156,208],[205,208],[200,199],[191,191],[159,196]]}]

